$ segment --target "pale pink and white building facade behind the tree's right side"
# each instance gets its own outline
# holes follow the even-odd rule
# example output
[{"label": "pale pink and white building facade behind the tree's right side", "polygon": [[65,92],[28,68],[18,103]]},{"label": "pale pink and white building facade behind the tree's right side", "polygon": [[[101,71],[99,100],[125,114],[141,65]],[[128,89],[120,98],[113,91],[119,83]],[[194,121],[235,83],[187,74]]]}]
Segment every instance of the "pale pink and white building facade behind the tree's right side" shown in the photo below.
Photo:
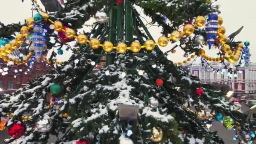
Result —
[{"label": "pale pink and white building facade behind the tree's right side", "polygon": [[[229,64],[227,64],[229,66]],[[211,64],[214,69],[219,69],[218,64]],[[190,67],[191,74],[197,76],[201,83],[226,84],[237,93],[256,93],[256,63],[250,63],[248,67],[239,67],[236,75],[229,76],[224,72],[213,72],[211,67],[202,67],[195,64]]]}]

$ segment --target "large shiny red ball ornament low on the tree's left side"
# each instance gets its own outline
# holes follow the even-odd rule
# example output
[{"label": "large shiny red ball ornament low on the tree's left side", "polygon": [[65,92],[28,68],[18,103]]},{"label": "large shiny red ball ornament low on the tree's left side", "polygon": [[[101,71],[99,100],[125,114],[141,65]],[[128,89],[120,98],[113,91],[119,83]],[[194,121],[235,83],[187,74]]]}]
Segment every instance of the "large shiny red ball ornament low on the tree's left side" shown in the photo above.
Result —
[{"label": "large shiny red ball ornament low on the tree's left side", "polygon": [[18,139],[26,132],[26,125],[22,121],[16,121],[11,127],[8,128],[8,134],[14,139]]}]

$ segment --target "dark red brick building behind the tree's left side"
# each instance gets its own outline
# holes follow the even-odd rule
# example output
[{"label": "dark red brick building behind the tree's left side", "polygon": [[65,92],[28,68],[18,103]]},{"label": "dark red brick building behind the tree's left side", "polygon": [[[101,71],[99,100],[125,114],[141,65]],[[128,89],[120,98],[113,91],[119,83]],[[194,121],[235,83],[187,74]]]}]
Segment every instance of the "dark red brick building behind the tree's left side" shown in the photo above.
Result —
[{"label": "dark red brick building behind the tree's left side", "polygon": [[27,64],[8,66],[5,61],[0,59],[1,93],[12,93],[50,69],[51,66],[45,62],[35,61],[34,67],[30,68]]}]

